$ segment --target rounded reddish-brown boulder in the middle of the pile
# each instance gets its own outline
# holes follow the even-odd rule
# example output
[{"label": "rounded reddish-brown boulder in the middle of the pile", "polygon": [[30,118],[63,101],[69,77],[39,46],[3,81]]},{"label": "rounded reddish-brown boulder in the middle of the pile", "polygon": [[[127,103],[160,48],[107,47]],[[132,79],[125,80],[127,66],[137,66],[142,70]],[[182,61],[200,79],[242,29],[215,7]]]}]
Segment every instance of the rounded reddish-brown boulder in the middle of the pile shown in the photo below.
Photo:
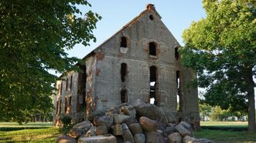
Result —
[{"label": "rounded reddish-brown boulder in the middle of the pile", "polygon": [[145,131],[156,131],[158,127],[156,121],[146,117],[139,118],[139,123]]}]

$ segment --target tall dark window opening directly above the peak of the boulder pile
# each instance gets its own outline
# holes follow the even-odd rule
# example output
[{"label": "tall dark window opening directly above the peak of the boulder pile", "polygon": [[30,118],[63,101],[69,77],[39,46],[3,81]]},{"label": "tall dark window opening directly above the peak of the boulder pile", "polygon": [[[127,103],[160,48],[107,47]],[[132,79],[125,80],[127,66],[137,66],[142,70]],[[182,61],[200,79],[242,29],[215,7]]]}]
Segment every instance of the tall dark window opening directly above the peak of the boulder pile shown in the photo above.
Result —
[{"label": "tall dark window opening directly above the peak of the boulder pile", "polygon": [[157,100],[157,68],[153,65],[150,67],[150,91],[149,91],[149,98],[150,98],[150,104],[158,105]]}]

